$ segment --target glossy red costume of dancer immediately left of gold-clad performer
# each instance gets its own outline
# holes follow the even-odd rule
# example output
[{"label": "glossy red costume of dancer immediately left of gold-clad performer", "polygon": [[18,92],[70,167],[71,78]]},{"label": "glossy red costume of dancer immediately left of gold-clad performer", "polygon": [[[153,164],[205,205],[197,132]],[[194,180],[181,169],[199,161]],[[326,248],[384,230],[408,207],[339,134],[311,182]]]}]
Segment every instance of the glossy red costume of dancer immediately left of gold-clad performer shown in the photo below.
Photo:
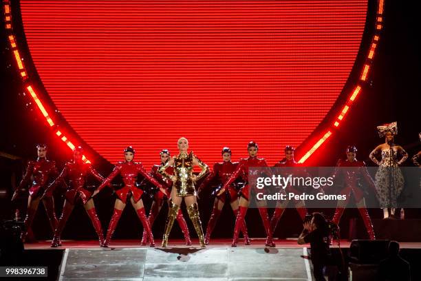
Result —
[{"label": "glossy red costume of dancer immediately left of gold-clad performer", "polygon": [[[164,178],[160,173],[158,173],[158,169],[164,165],[165,165],[164,163],[162,163],[161,165],[153,165],[150,172],[151,176],[155,178],[156,180],[158,180],[158,182],[166,190],[165,194],[160,189],[158,189],[158,191],[155,193],[155,196],[153,199],[155,200],[157,204],[160,204],[162,200],[167,200],[168,198],[170,198],[171,188],[173,187],[172,180],[170,180],[169,178]],[[174,174],[174,168],[171,166],[166,168],[165,171],[170,175]],[[155,221],[155,218],[158,216],[158,212],[159,212],[158,209],[155,209],[155,210],[151,209],[151,211],[149,211],[148,220],[151,227],[153,225],[153,222]],[[184,216],[181,209],[178,210],[176,219],[177,219],[178,225],[180,225],[180,228],[182,229],[184,240],[186,241],[186,245],[190,246],[191,245],[190,232],[188,231],[187,223],[186,223],[186,220],[184,220]],[[147,232],[143,231],[141,244],[145,245],[146,243],[147,243]]]}]

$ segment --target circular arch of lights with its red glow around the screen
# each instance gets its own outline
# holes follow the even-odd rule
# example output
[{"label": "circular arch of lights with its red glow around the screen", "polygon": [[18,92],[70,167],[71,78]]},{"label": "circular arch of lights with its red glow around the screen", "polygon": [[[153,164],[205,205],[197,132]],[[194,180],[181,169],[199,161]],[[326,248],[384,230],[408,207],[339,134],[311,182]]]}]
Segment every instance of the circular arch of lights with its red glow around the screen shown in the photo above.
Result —
[{"label": "circular arch of lights with its red glow around the screen", "polygon": [[[347,98],[339,105],[332,107],[330,112],[325,116],[324,121],[321,122],[322,126],[316,127],[314,132],[304,141],[301,145],[305,147],[302,149],[302,153],[299,157],[299,163],[304,163],[305,160],[310,158],[319,147],[325,143],[328,138],[336,132],[338,127],[343,123],[343,120],[349,114],[352,109],[352,105],[356,101],[356,98],[363,92],[363,88],[367,83],[367,77],[370,74],[376,48],[380,40],[380,32],[383,28],[383,12],[384,12],[384,0],[377,1],[376,8],[376,20],[374,24],[374,32],[372,34],[370,45],[362,67],[358,70],[359,78],[358,81],[354,81],[352,90],[347,92]],[[43,90],[39,90],[35,85],[39,81],[34,81],[35,77],[30,77],[28,74],[27,65],[23,61],[19,46],[17,43],[17,35],[14,32],[14,21],[12,20],[12,5],[10,0],[3,0],[3,17],[6,28],[6,36],[8,43],[10,44],[10,50],[14,56],[19,76],[21,77],[25,92],[32,100],[36,108],[42,114],[45,121],[45,125],[51,128],[52,134],[61,140],[69,149],[74,149],[75,146],[80,145],[83,141],[80,137],[72,130],[66,121],[61,118],[58,114],[58,110],[49,103],[48,98],[43,93]],[[328,122],[325,122],[328,121]],[[91,157],[89,157],[91,158]],[[83,156],[83,160],[90,163],[87,156]]]}]

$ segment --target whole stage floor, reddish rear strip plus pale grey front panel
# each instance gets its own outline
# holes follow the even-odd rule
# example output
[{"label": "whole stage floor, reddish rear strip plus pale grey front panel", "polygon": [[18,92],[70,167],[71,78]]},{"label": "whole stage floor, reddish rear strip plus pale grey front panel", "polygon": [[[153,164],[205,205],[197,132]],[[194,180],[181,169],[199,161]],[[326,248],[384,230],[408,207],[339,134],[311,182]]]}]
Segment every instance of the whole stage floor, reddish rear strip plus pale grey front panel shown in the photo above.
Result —
[{"label": "whole stage floor, reddish rear strip plus pale grey front panel", "polygon": [[[96,240],[63,240],[63,247],[51,248],[51,241],[43,240],[25,244],[25,255],[32,256],[32,262],[54,260],[56,265],[49,265],[50,280],[314,280],[309,245],[288,239],[275,240],[277,247],[268,248],[264,241],[255,238],[244,246],[239,240],[233,248],[228,239],[214,239],[202,249],[197,239],[191,247],[183,240],[170,240],[166,248],[140,246],[139,240],[113,240],[109,248],[98,247]],[[155,240],[157,246],[160,242]],[[349,245],[341,241],[345,262]],[[400,246],[415,269],[421,242]],[[337,243],[332,245],[332,255],[340,264]]]}]

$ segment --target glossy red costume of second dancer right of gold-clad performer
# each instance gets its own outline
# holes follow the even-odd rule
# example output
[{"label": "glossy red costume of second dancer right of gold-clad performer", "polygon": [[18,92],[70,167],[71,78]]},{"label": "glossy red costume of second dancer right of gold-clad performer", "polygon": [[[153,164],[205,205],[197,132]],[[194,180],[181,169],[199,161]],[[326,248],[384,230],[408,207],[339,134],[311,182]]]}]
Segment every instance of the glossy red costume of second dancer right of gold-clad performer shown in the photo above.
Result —
[{"label": "glossy red costume of second dancer right of gold-clad performer", "polygon": [[[249,167],[266,167],[266,174],[272,175],[272,171],[270,171],[266,160],[263,158],[258,157],[248,157],[248,158],[241,158],[239,161],[239,165],[230,176],[230,178],[224,183],[223,189],[228,189],[230,185],[234,183],[234,181],[241,176],[246,183],[244,187],[241,188],[241,196],[246,198],[247,200],[250,199],[251,191],[255,192],[258,189],[250,189],[250,185],[248,184],[248,168]],[[262,190],[259,190],[261,192]],[[238,235],[241,227],[245,224],[244,218],[246,217],[248,207],[241,207],[239,206],[239,212],[237,214],[237,219],[235,220],[235,227],[234,227],[234,235],[233,235],[233,247],[237,246]],[[270,220],[268,216],[268,209],[266,207],[259,208],[259,214],[261,216],[261,220],[263,222],[263,226],[265,227],[266,235],[266,245],[270,247],[274,247],[274,242],[272,240],[272,229],[270,229]]]}]

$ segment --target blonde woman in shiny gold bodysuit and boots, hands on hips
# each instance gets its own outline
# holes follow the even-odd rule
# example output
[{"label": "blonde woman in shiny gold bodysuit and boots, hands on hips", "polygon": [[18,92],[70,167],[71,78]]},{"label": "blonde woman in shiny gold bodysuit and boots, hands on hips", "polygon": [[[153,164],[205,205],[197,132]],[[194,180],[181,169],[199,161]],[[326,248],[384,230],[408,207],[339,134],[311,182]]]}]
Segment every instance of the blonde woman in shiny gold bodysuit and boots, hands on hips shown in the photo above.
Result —
[{"label": "blonde woman in shiny gold bodysuit and boots, hands on hips", "polygon": [[[177,141],[177,145],[180,153],[171,158],[166,165],[158,169],[158,173],[173,181],[169,211],[165,223],[164,238],[162,238],[162,247],[166,247],[168,244],[169,233],[171,232],[183,198],[184,202],[186,202],[188,216],[193,222],[197,236],[199,237],[200,247],[206,247],[202,222],[199,217],[199,208],[197,207],[195,183],[199,178],[202,178],[208,173],[209,168],[208,165],[199,160],[193,152],[190,152],[190,154],[187,153],[188,141],[186,138],[180,138]],[[174,168],[174,175],[170,175],[165,171],[170,166]],[[193,174],[194,166],[199,166],[200,169],[202,169],[197,176]]]}]

